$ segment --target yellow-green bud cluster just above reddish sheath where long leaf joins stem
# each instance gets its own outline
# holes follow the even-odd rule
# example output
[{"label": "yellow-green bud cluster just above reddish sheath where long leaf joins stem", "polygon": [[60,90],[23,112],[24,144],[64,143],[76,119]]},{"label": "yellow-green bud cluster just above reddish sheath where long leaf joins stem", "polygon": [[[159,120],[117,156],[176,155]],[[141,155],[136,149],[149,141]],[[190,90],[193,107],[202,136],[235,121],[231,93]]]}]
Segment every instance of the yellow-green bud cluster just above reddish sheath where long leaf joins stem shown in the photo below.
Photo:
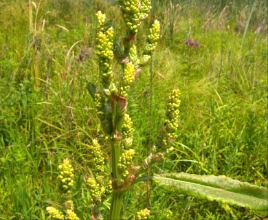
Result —
[{"label": "yellow-green bud cluster just above reddish sheath where long leaf joins stem", "polygon": [[118,170],[122,173],[122,177],[127,177],[129,175],[128,168],[131,165],[134,155],[135,151],[133,149],[126,150],[122,153],[118,164]]}]

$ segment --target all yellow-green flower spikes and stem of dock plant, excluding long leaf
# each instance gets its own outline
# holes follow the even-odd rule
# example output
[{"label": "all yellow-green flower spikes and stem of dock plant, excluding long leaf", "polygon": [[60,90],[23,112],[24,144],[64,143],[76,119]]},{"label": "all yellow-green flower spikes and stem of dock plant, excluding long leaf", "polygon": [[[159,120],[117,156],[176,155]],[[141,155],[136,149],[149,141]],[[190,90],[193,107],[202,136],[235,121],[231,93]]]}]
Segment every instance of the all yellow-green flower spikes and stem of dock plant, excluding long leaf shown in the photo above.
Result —
[{"label": "all yellow-green flower spikes and stem of dock plant, excluding long leaf", "polygon": [[[139,76],[142,68],[149,63],[152,53],[157,47],[160,35],[160,23],[155,20],[148,28],[147,41],[144,48],[137,50],[137,32],[142,21],[148,18],[150,0],[122,0],[118,1],[122,11],[122,17],[126,23],[126,36],[122,42],[114,43],[114,30],[107,28],[106,15],[98,11],[98,33],[96,36],[96,54],[98,55],[100,85],[96,87],[89,83],[91,94],[98,118],[102,124],[102,130],[111,142],[110,172],[107,176],[104,167],[103,149],[94,139],[89,146],[89,155],[94,166],[94,173],[86,178],[89,195],[91,197],[91,219],[103,219],[100,212],[102,203],[112,192],[109,219],[120,219],[120,210],[124,192],[128,190],[137,178],[140,166],[133,165],[135,150],[133,149],[133,122],[127,110],[127,98],[131,85]],[[137,52],[139,51],[139,53]],[[119,55],[118,55],[119,54]],[[116,58],[116,59],[114,59]],[[122,72],[114,72],[113,63],[118,61],[122,66]],[[168,119],[164,138],[161,143],[164,146],[172,146],[177,135],[177,119],[179,114],[179,90],[172,91],[168,104]],[[169,151],[170,148],[167,149]],[[163,153],[156,153],[155,159],[163,158]],[[60,186],[63,190],[64,207],[58,210],[47,207],[47,212],[54,219],[78,219],[74,213],[74,203],[71,200],[71,187],[74,184],[73,168],[69,159],[63,160],[60,168]],[[140,210],[134,219],[147,219],[150,214],[148,208]]]}]

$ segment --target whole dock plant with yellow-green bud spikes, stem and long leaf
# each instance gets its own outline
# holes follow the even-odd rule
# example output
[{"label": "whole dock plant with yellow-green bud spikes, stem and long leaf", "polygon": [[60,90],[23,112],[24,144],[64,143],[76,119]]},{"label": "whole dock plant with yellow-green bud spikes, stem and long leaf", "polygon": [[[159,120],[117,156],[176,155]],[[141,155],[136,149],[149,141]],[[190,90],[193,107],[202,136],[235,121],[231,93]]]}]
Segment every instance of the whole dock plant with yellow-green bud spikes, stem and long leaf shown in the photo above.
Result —
[{"label": "whole dock plant with yellow-green bud spikes, stem and long leaf", "polygon": [[[135,79],[150,63],[152,54],[157,49],[160,22],[157,19],[151,21],[150,28],[147,30],[146,43],[138,43],[142,40],[139,39],[139,28],[144,24],[145,19],[150,17],[150,1],[121,0],[118,1],[118,5],[125,23],[125,36],[122,42],[115,39],[115,30],[109,27],[106,14],[101,11],[96,13],[98,21],[96,54],[100,82],[98,85],[89,83],[88,89],[93,98],[102,131],[109,140],[110,173],[107,174],[104,170],[103,149],[98,140],[93,139],[88,148],[95,170],[86,178],[91,196],[91,204],[89,204],[91,219],[121,219],[124,194],[139,181],[153,181],[168,191],[199,199],[219,201],[253,210],[265,210],[267,208],[267,188],[265,187],[253,186],[223,176],[187,173],[153,174],[150,170],[146,170],[150,167],[150,163],[161,161],[174,148],[179,148],[176,144],[181,102],[179,89],[170,91],[166,120],[155,138],[154,151],[149,151],[144,164],[134,164],[133,133],[135,129],[128,109],[129,92]],[[69,159],[64,159],[59,169],[63,208],[49,206],[47,212],[54,219],[78,219],[71,200],[74,173]],[[100,208],[108,198],[111,198],[109,217],[104,217]],[[150,207],[144,207],[133,214],[133,219],[148,219],[149,214]]]}]

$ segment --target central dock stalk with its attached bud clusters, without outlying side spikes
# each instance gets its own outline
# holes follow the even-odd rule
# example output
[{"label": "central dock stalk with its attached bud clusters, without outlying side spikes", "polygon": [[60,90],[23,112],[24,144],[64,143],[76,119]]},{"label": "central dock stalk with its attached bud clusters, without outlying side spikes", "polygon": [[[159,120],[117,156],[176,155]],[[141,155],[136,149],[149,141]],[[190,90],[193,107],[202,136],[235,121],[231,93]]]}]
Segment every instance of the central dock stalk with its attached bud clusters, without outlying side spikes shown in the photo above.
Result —
[{"label": "central dock stalk with its attached bud clusters, without outlying side spikes", "polygon": [[[160,33],[160,23],[155,20],[149,29],[147,43],[139,57],[137,54],[137,32],[142,21],[148,17],[151,2],[148,0],[122,0],[118,3],[126,23],[123,48],[117,48],[118,45],[113,46],[113,28],[105,29],[105,14],[100,11],[96,14],[98,19],[96,50],[102,80],[101,86],[96,89],[93,98],[103,130],[111,140],[113,195],[110,219],[120,218],[122,195],[131,186],[139,169],[139,166],[133,166],[133,157],[135,156],[135,150],[132,147],[134,129],[129,114],[126,114],[129,89],[131,89],[131,85],[139,72],[142,71],[142,67],[150,61]],[[115,50],[115,56],[116,52],[120,51],[119,58],[116,58],[122,65],[122,73],[113,72],[113,50]],[[115,81],[115,79],[119,80]],[[94,179],[89,179],[89,181],[91,186],[96,186]],[[94,193],[96,198],[100,197],[96,190]]]}]

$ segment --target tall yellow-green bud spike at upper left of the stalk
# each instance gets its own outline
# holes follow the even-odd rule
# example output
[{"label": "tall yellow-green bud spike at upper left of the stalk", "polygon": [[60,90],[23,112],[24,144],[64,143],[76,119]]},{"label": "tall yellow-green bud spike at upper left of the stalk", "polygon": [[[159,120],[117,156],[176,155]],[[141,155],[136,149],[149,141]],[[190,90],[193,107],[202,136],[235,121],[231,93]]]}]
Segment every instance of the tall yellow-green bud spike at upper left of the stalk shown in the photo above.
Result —
[{"label": "tall yellow-green bud spike at upper left of the stalk", "polygon": [[104,30],[105,14],[99,11],[96,15],[99,23],[99,32],[96,38],[96,51],[99,56],[100,74],[104,86],[109,87],[113,80],[113,28]]}]

